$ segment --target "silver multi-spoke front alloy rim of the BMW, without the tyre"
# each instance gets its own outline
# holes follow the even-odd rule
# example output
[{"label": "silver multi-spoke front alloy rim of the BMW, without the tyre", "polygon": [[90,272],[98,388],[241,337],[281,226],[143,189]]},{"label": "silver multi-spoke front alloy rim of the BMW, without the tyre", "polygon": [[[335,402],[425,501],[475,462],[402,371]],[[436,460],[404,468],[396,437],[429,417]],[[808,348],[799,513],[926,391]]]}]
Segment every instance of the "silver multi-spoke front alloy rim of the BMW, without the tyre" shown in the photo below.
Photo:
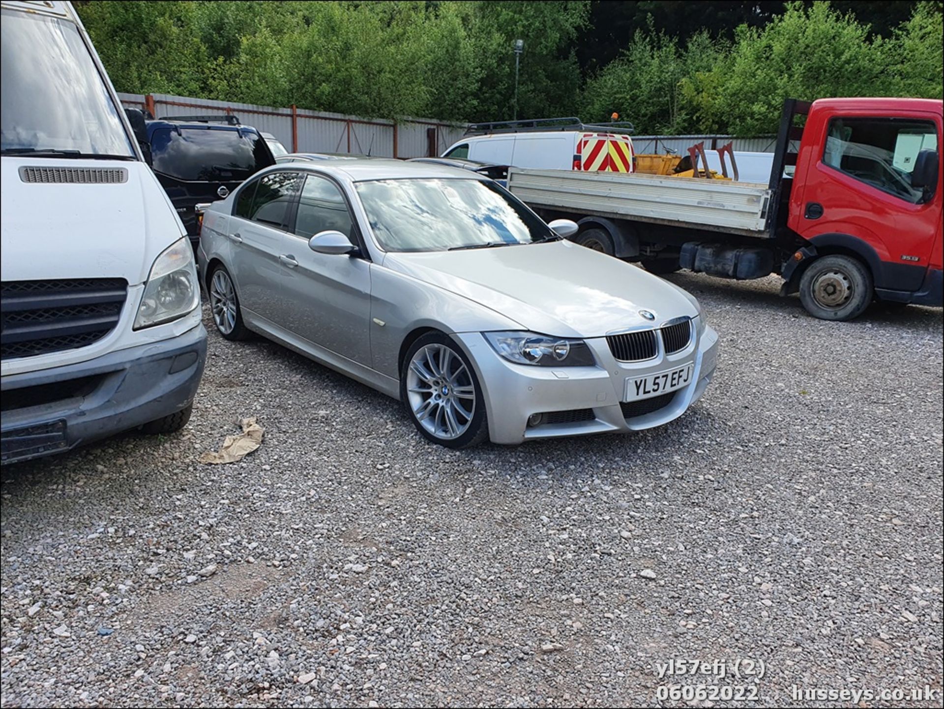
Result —
[{"label": "silver multi-spoke front alloy rim of the BMW, without the tyre", "polygon": [[458,438],[475,415],[475,384],[459,355],[445,345],[427,345],[413,354],[407,397],[416,420],[436,438]]}]

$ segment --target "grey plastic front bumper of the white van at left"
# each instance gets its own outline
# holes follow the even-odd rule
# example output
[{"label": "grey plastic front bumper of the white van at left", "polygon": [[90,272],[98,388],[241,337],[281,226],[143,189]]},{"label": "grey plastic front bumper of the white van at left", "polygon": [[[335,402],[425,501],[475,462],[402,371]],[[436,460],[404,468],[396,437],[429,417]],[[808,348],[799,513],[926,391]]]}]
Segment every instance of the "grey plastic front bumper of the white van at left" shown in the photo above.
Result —
[{"label": "grey plastic front bumper of the white van at left", "polygon": [[4,464],[39,458],[187,408],[207,356],[203,325],[93,360],[4,377]]}]

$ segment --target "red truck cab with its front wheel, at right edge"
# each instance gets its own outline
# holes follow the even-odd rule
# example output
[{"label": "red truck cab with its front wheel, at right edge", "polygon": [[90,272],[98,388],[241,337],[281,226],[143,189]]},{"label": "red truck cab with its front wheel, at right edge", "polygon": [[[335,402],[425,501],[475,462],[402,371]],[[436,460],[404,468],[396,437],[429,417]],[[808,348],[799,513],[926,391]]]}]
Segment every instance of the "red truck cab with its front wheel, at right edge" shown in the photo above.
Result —
[{"label": "red truck cab with its front wheel, at right edge", "polygon": [[[781,128],[800,138],[785,222],[803,245],[784,266],[785,288],[799,291],[810,312],[834,320],[855,317],[873,297],[940,306],[944,104],[796,103],[793,113],[807,114],[805,126]],[[794,157],[787,143],[784,165],[775,162],[775,170]]]}]

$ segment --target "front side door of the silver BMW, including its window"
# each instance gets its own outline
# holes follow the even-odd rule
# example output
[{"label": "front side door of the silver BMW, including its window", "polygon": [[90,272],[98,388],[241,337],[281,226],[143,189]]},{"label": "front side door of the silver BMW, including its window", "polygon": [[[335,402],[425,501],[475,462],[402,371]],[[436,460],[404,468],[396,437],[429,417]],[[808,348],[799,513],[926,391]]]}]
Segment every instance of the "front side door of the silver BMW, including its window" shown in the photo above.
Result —
[{"label": "front side door of the silver BMW, including its window", "polygon": [[357,244],[341,189],[328,177],[305,177],[292,233],[283,239],[285,310],[281,324],[298,337],[370,366],[370,262],[361,255],[318,254],[308,242],[321,231]]}]

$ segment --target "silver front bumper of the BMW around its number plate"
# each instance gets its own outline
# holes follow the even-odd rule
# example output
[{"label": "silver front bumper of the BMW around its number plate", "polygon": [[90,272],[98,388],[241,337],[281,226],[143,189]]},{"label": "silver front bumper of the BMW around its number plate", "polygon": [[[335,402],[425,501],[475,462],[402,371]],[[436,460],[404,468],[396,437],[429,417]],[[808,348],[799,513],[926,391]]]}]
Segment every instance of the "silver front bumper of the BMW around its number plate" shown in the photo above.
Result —
[{"label": "silver front bumper of the BMW around its number plate", "polygon": [[[594,367],[536,367],[498,356],[479,332],[456,334],[479,377],[488,414],[489,438],[497,444],[519,444],[531,438],[650,429],[681,416],[698,401],[715,373],[717,333],[705,327],[700,337],[672,355],[660,351],[642,363],[617,362],[605,338],[586,340],[597,358]],[[677,390],[656,411],[626,418],[620,401],[628,377],[642,377],[694,363],[691,383]],[[593,411],[593,418],[574,423],[529,427],[531,414]]]}]

